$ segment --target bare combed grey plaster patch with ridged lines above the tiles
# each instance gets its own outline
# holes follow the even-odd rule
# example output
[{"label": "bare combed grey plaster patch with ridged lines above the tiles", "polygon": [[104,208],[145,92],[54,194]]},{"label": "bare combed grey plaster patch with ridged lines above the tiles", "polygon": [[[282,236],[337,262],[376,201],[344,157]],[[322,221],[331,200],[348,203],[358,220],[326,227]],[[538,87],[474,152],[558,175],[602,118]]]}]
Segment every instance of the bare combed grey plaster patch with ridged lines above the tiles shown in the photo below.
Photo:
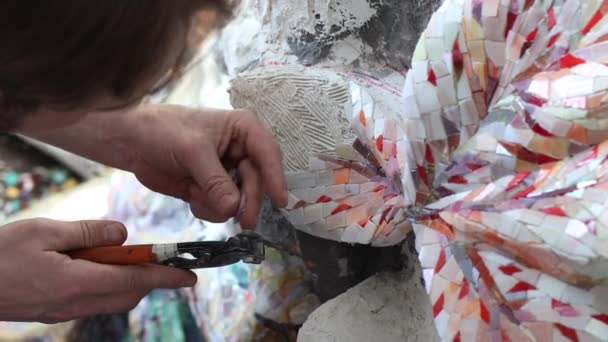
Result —
[{"label": "bare combed grey plaster patch with ridged lines above the tiles", "polygon": [[235,108],[255,110],[273,133],[286,172],[307,170],[314,154],[354,140],[344,113],[348,83],[331,71],[264,67],[236,77],[230,94]]}]

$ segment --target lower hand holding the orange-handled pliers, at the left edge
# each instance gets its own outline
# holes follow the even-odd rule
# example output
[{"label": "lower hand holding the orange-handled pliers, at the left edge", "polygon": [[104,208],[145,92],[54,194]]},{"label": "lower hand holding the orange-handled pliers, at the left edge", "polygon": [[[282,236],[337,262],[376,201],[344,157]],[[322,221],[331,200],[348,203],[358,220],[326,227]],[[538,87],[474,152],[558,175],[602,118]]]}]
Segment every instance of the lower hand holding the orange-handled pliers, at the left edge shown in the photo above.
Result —
[{"label": "lower hand holding the orange-handled pliers, at the left edge", "polygon": [[190,271],[157,265],[111,266],[61,252],[120,245],[111,221],[24,220],[0,227],[0,321],[55,323],[126,312],[155,288],[193,286]]}]

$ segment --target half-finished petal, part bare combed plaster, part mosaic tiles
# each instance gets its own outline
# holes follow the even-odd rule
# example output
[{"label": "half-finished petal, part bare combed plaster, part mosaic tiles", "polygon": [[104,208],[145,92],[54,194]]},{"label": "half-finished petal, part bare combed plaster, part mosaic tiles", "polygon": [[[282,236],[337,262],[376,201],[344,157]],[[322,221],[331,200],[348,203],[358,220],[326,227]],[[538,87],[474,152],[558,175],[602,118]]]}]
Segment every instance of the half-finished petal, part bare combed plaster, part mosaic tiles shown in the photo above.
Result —
[{"label": "half-finished petal, part bare combed plaster, part mosaic tiles", "polygon": [[330,240],[388,246],[411,231],[405,209],[414,204],[411,176],[399,167],[405,138],[395,113],[403,103],[379,105],[366,86],[377,98],[399,93],[366,75],[294,65],[243,73],[230,91],[235,107],[262,113],[281,146],[291,224]]}]

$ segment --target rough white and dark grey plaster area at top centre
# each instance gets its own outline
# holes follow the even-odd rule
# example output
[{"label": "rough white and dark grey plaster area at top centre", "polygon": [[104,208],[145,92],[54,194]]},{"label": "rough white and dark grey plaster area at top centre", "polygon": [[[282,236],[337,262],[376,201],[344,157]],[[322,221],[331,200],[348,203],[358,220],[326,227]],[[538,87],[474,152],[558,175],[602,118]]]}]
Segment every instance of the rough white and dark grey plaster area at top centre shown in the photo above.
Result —
[{"label": "rough white and dark grey plaster area at top centre", "polygon": [[407,69],[440,0],[243,0],[218,49],[228,74],[269,62]]}]

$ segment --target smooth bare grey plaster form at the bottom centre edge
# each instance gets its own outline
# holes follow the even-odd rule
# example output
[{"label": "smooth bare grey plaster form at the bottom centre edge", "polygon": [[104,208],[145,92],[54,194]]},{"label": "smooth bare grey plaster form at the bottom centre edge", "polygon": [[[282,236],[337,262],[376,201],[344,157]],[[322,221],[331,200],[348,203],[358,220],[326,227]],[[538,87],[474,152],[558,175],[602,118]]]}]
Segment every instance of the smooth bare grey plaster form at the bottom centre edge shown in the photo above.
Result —
[{"label": "smooth bare grey plaster form at the bottom centre edge", "polygon": [[[417,267],[419,268],[419,267]],[[419,269],[380,273],[315,310],[299,342],[438,341]]]}]

